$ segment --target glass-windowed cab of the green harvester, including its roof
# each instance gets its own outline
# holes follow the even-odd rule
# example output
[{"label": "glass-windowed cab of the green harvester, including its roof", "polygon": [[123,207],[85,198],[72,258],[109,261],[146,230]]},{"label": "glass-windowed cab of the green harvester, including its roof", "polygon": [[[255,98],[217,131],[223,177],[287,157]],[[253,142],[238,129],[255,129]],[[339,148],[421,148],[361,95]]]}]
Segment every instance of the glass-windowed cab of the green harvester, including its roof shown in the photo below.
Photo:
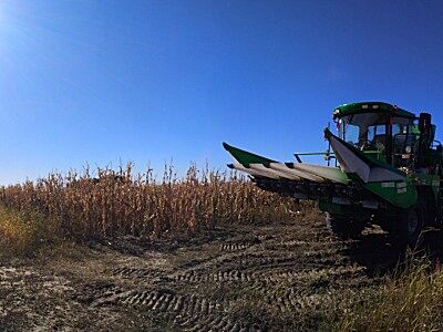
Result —
[{"label": "glass-windowed cab of the green harvester, including its roof", "polygon": [[343,105],[333,112],[339,137],[382,160],[408,172],[439,174],[439,152],[433,149],[435,125],[429,113],[413,113],[384,103]]}]

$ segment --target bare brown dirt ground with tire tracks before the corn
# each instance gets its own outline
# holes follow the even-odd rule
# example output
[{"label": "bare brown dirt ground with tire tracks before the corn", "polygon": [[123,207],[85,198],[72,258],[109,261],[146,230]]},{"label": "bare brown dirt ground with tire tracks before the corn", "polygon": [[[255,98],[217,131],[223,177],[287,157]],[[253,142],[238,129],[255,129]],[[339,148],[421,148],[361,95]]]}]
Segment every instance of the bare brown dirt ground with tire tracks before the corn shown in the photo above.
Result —
[{"label": "bare brown dirt ground with tire tracks before the corn", "polygon": [[190,241],[121,238],[1,262],[1,331],[327,329],[341,297],[375,287],[399,258],[377,230],[338,240],[319,212]]}]

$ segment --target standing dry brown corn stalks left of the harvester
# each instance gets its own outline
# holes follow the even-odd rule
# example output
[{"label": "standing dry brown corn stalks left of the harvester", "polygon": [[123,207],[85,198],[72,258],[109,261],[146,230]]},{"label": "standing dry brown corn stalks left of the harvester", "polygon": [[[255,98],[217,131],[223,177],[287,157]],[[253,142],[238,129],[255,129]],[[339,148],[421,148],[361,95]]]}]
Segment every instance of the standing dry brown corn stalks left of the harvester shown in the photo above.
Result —
[{"label": "standing dry brown corn stalks left of the harvester", "polygon": [[19,211],[37,210],[58,220],[64,235],[86,239],[271,221],[298,208],[293,200],[259,190],[235,173],[190,166],[186,176],[177,178],[172,167],[165,167],[157,180],[152,170],[133,175],[132,164],[117,170],[99,168],[94,176],[86,167],[82,174],[50,174],[3,186],[0,204]]}]

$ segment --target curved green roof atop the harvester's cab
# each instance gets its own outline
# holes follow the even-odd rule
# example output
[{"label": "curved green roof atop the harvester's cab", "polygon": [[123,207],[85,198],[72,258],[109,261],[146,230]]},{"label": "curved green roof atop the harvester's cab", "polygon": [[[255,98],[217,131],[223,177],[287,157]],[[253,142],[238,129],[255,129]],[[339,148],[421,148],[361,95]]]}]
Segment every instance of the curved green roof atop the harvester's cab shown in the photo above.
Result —
[{"label": "curved green roof atop the harvester's cab", "polygon": [[391,113],[393,116],[416,120],[415,114],[383,102],[360,102],[337,106],[333,118],[359,113]]}]

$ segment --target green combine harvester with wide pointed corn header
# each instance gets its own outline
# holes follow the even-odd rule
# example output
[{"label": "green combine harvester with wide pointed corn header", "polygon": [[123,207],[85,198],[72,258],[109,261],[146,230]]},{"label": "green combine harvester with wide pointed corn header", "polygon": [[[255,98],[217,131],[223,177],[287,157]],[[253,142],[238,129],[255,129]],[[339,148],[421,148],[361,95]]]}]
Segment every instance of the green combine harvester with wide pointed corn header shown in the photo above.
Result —
[{"label": "green combine harvester with wide pointed corn header", "polygon": [[[329,166],[279,163],[224,143],[235,163],[261,189],[318,200],[327,224],[341,238],[379,225],[413,246],[425,228],[441,228],[443,147],[431,114],[381,102],[344,104],[333,111],[338,135],[329,128]],[[332,149],[332,151],[331,151]],[[331,164],[334,164],[331,166]]]}]

